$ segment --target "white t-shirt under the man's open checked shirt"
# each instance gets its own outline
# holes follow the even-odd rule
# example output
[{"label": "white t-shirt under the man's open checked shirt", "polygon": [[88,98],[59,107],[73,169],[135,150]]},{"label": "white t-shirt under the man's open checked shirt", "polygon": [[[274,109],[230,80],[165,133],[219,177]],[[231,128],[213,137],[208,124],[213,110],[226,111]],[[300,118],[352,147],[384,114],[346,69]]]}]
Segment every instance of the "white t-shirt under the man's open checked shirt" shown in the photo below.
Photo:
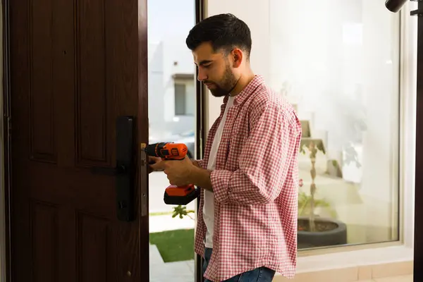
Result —
[{"label": "white t-shirt under the man's open checked shirt", "polygon": [[[210,150],[209,163],[207,164],[208,170],[216,168],[216,154],[221,141],[223,125],[225,125],[226,114],[228,109],[233,105],[235,96],[229,96],[228,103],[226,104],[225,112],[223,113],[219,128],[217,128],[216,135],[214,135],[212,149]],[[213,248],[213,230],[214,230],[214,195],[213,192],[204,190],[204,206],[203,206],[203,219],[206,224],[206,238],[204,242],[205,247]]]}]

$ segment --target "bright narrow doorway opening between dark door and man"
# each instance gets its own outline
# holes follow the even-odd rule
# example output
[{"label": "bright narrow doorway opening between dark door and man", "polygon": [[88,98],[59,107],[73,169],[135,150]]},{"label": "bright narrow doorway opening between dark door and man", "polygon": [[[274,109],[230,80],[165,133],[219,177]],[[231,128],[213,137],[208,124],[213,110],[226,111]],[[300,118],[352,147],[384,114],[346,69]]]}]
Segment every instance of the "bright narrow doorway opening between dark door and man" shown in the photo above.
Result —
[{"label": "bright narrow doorway opening between dark door and man", "polygon": [[[149,0],[147,6],[149,144],[185,143],[193,157],[195,67],[185,39],[195,25],[195,1]],[[172,217],[177,206],[164,203],[168,185],[164,173],[149,174],[149,281],[193,282],[195,214]],[[186,209],[194,211],[195,201]]]}]

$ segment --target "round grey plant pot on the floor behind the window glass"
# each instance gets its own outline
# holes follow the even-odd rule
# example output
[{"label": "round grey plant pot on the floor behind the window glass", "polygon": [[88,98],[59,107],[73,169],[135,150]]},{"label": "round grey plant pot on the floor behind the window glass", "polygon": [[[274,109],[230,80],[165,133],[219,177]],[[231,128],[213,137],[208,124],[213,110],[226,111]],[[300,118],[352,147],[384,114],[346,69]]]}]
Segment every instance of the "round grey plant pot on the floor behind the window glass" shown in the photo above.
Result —
[{"label": "round grey plant pot on the floor behind the window glass", "polygon": [[[347,243],[347,226],[335,219],[316,217],[316,231],[308,231],[309,217],[298,216],[298,248],[326,247]],[[302,229],[302,230],[301,230]]]}]

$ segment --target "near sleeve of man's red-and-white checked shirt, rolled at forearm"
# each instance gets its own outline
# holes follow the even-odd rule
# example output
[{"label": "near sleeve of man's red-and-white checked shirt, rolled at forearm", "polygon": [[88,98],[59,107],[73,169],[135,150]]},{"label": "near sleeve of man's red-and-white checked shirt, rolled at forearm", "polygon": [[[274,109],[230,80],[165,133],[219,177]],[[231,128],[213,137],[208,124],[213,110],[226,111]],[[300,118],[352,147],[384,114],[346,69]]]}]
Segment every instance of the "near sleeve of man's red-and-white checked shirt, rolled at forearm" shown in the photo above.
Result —
[{"label": "near sleeve of man's red-and-white checked shirt, rolled at forearm", "polygon": [[[236,171],[214,170],[214,200],[221,204],[267,204],[278,197],[298,154],[300,121],[275,102],[254,107],[250,135]],[[293,120],[293,121],[292,121]]]}]

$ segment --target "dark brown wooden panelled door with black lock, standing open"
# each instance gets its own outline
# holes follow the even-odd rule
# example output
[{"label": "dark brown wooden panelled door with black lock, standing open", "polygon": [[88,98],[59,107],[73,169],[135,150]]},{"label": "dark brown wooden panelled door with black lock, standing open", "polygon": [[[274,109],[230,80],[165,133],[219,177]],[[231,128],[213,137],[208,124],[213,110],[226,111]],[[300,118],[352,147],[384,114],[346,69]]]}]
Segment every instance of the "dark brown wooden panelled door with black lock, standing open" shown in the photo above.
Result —
[{"label": "dark brown wooden panelled door with black lock, standing open", "polygon": [[[146,0],[8,5],[13,282],[148,281]],[[119,116],[135,118],[133,221],[114,171],[93,173],[116,167]]]}]

